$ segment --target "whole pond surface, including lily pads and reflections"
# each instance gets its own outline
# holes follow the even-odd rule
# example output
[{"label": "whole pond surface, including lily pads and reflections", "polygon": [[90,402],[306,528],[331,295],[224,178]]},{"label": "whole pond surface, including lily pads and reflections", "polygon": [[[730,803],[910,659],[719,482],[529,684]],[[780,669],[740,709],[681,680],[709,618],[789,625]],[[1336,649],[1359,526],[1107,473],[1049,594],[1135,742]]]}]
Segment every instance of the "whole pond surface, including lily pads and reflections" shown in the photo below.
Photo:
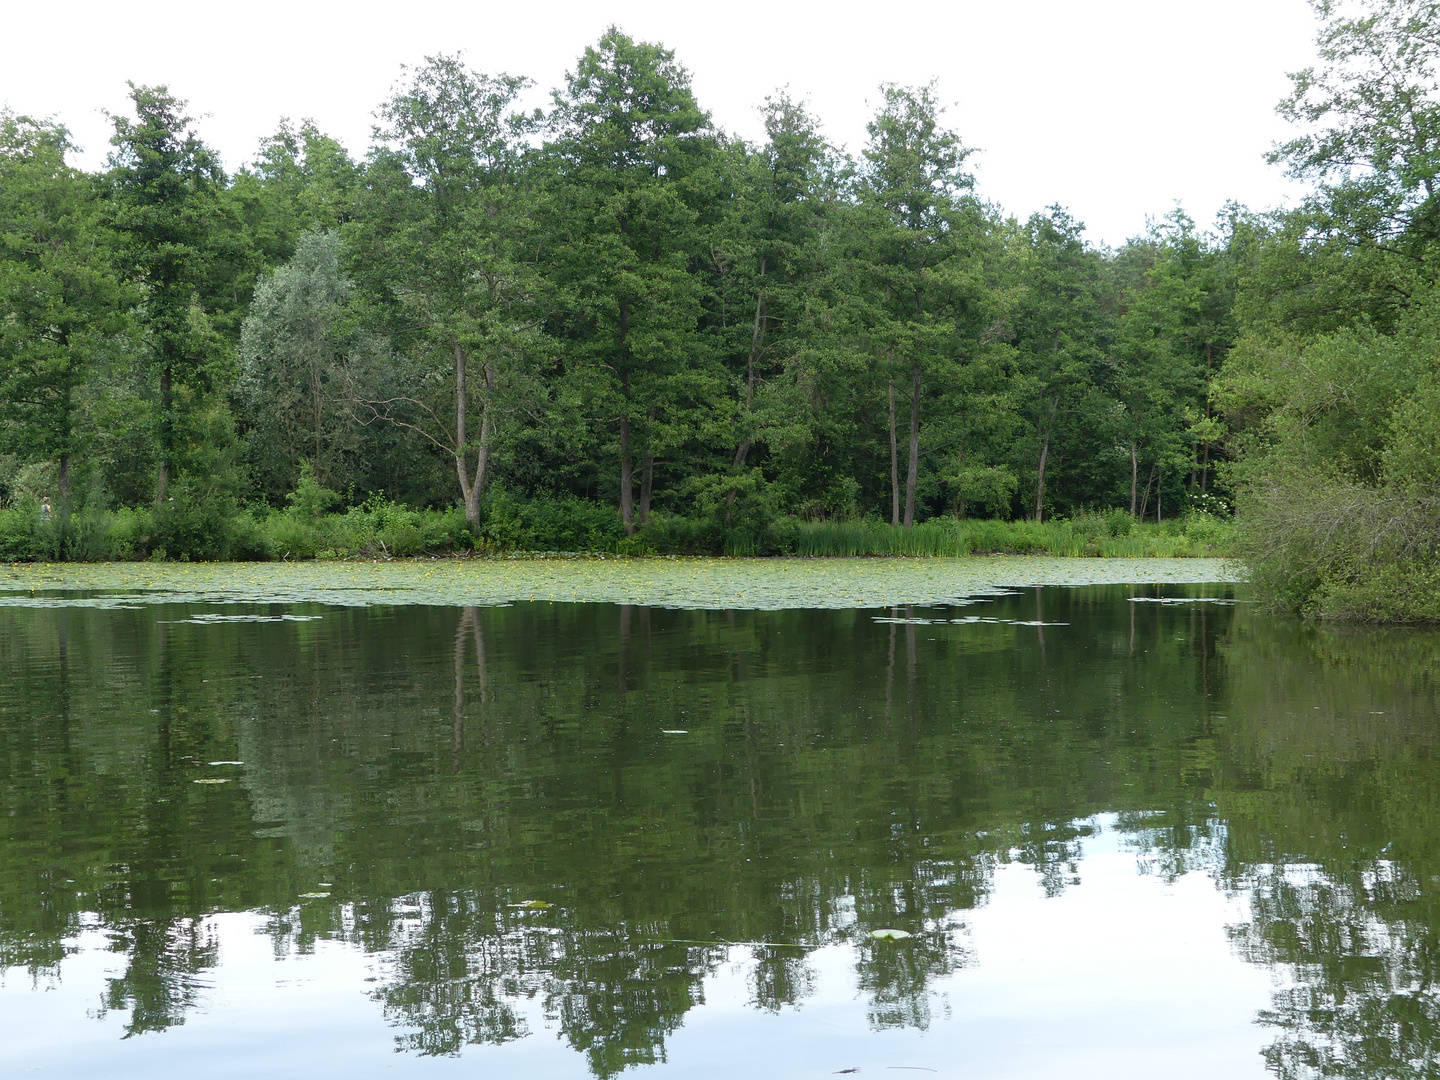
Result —
[{"label": "whole pond surface, including lily pads and reflections", "polygon": [[1440,636],[1230,576],[0,567],[0,1073],[1434,1076]]}]

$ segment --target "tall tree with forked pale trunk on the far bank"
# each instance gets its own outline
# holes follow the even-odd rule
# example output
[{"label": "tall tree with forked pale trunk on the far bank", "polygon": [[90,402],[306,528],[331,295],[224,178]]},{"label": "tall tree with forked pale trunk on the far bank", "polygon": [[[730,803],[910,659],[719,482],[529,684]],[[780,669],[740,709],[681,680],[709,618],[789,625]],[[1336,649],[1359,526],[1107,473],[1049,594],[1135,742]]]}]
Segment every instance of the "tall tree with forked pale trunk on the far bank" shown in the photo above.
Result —
[{"label": "tall tree with forked pale trunk on the far bank", "polygon": [[480,524],[495,451],[527,423],[544,351],[533,294],[526,176],[536,118],[527,81],[432,56],[380,107],[353,269],[399,353],[399,386],[361,395],[372,419],[451,458]]}]

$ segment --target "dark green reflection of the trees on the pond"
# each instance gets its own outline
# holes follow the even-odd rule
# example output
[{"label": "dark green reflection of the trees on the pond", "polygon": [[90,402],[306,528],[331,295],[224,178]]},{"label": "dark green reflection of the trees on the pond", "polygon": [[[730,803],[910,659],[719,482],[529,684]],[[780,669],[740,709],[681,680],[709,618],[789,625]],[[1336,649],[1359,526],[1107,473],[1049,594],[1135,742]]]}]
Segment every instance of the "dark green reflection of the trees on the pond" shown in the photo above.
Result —
[{"label": "dark green reflection of the trees on the pond", "polygon": [[[104,935],[94,1012],[160,1032],[258,912],[278,960],[376,958],[406,1051],[543,1027],[613,1076],[736,963],[780,1014],[837,948],[873,1030],[932,1028],[996,876],[1064,897],[1110,832],[1244,901],[1272,1071],[1433,1076],[1440,639],[1215,588],[0,611],[0,966],[55,984]],[[187,621],[217,611],[265,621]]]}]

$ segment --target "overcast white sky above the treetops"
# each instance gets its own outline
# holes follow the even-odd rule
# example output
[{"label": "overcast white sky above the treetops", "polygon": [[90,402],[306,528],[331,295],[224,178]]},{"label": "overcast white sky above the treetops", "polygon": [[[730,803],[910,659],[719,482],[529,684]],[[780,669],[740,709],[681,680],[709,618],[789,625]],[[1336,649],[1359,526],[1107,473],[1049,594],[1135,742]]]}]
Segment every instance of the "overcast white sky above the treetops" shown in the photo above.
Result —
[{"label": "overcast white sky above the treetops", "polygon": [[1112,245],[1176,200],[1208,223],[1227,199],[1286,197],[1263,154],[1286,134],[1274,104],[1312,62],[1315,30],[1305,0],[0,0],[0,102],[59,117],[86,167],[104,160],[104,109],[125,108],[127,79],[187,99],[232,168],[281,117],[311,117],[361,154],[402,63],[464,50],[547,92],[609,23],[674,49],[716,122],[750,138],[756,105],[788,85],[858,150],[880,82],[937,79],[981,150],[982,194],[1021,216],[1058,202]]}]

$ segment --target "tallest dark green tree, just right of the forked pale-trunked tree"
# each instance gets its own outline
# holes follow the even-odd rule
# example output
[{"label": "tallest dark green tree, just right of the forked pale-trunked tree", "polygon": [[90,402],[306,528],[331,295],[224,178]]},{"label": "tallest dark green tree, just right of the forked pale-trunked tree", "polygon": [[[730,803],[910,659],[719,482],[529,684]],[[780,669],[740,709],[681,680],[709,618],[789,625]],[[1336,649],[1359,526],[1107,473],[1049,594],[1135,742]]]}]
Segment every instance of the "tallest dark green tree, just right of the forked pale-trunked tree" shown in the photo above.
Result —
[{"label": "tallest dark green tree, just right of the forked pale-trunked tree", "polygon": [[616,27],[566,75],[549,130],[543,223],[556,328],[570,346],[573,393],[615,462],[629,533],[649,513],[655,456],[678,452],[724,393],[701,336],[706,279],[693,271],[723,158],[674,53]]}]

